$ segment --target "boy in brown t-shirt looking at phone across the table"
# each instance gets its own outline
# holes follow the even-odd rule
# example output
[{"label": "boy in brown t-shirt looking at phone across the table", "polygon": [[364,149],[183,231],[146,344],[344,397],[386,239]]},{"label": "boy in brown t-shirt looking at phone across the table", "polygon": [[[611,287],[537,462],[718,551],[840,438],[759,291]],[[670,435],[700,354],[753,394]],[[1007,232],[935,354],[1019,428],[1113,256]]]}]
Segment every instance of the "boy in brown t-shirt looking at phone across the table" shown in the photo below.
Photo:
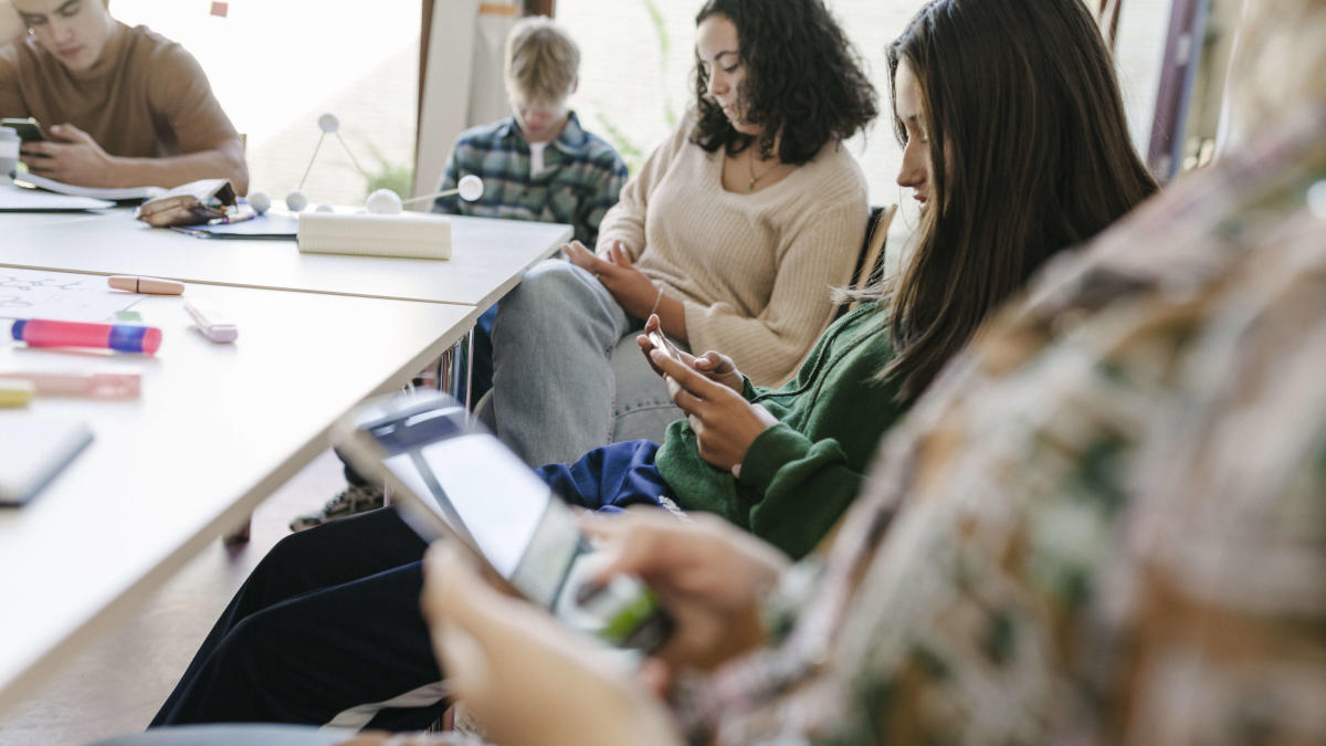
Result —
[{"label": "boy in brown t-shirt looking at phone across the table", "polygon": [[101,0],[13,0],[28,36],[0,46],[0,115],[33,117],[33,174],[88,187],[227,178],[248,191],[239,134],[183,46]]}]

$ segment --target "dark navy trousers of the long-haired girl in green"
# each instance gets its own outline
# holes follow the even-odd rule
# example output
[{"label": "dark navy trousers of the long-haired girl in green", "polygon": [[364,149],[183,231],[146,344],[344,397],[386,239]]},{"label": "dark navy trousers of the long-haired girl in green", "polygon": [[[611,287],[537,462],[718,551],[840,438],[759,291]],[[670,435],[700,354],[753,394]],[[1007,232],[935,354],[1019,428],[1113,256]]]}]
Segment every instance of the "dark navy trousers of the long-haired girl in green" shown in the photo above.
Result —
[{"label": "dark navy trousers of the long-haired girl in green", "polygon": [[[593,510],[675,500],[631,441],[537,470]],[[244,581],[152,726],[288,722],[419,730],[447,708],[419,613],[424,542],[394,510],[286,536]]]}]

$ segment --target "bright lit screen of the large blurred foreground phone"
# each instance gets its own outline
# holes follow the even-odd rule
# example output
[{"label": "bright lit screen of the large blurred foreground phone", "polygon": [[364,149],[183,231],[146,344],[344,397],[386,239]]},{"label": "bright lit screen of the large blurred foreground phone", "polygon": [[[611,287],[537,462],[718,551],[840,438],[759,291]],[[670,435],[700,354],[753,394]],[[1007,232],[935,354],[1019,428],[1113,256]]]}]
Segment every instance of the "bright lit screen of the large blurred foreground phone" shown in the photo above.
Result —
[{"label": "bright lit screen of the large blurred foreground phone", "polygon": [[[459,421],[459,422],[457,422]],[[552,607],[583,547],[570,510],[495,437],[464,431],[463,410],[375,423],[382,463],[532,601]]]}]

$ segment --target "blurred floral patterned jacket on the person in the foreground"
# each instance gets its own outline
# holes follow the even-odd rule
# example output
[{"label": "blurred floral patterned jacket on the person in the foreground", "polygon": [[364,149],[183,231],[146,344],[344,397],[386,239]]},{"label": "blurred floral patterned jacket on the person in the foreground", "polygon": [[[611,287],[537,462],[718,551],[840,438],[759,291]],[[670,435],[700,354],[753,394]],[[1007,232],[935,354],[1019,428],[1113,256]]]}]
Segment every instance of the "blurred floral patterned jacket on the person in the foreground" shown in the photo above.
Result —
[{"label": "blurred floral patterned jacket on the person in the foreground", "polygon": [[884,442],[721,743],[1326,743],[1326,106],[1050,265]]}]

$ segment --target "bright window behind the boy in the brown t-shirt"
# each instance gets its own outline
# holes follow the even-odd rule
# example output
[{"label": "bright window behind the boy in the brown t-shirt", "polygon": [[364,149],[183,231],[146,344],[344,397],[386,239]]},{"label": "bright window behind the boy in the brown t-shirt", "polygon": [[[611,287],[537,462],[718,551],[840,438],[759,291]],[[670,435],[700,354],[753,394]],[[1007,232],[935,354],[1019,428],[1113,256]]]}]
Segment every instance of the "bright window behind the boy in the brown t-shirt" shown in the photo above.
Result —
[{"label": "bright window behind the boy in the brown t-shirt", "polygon": [[[325,112],[377,186],[410,191],[419,80],[419,3],[114,0],[111,15],[179,41],[245,135],[249,188],[274,199],[298,186]],[[217,4],[220,5],[220,4]],[[381,183],[379,183],[381,181]],[[312,203],[362,204],[371,191],[328,137],[304,186]]]}]

